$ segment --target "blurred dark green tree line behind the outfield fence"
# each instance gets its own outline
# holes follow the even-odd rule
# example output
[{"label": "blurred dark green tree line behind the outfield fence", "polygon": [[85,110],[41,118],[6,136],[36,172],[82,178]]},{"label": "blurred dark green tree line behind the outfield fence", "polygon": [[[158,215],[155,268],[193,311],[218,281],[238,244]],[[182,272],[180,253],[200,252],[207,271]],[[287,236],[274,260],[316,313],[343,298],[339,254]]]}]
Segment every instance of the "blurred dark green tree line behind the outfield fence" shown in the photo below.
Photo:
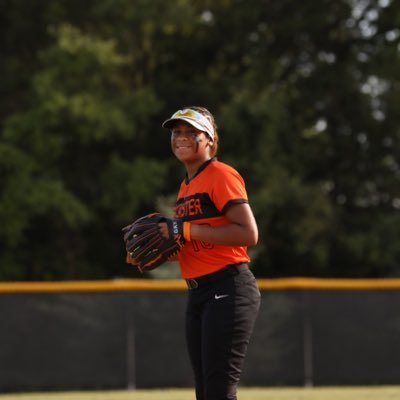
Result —
[{"label": "blurred dark green tree line behind the outfield fence", "polygon": [[121,228],[171,208],[161,123],[185,105],[246,181],[257,276],[399,275],[399,2],[0,0],[0,18],[1,280],[139,276]]}]

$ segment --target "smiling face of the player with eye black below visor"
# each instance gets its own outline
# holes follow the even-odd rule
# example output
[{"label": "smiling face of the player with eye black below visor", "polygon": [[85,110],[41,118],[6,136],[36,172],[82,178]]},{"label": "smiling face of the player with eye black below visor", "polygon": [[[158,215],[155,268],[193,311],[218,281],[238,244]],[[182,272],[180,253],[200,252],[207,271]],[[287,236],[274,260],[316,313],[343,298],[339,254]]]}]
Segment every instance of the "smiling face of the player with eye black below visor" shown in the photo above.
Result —
[{"label": "smiling face of the player with eye black below visor", "polygon": [[177,121],[171,130],[171,148],[184,164],[202,164],[210,159],[211,138],[185,121]]}]

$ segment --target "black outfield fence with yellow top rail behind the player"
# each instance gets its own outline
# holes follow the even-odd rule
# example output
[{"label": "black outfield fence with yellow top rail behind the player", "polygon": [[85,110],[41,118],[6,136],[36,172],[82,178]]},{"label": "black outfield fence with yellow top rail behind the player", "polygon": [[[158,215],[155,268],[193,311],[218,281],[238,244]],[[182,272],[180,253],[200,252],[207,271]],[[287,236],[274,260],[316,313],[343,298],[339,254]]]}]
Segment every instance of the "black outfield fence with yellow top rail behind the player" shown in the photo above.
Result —
[{"label": "black outfield fence with yellow top rail behind the player", "polygon": [[[400,280],[259,280],[242,384],[400,384]],[[181,281],[0,284],[0,391],[188,387]]]}]

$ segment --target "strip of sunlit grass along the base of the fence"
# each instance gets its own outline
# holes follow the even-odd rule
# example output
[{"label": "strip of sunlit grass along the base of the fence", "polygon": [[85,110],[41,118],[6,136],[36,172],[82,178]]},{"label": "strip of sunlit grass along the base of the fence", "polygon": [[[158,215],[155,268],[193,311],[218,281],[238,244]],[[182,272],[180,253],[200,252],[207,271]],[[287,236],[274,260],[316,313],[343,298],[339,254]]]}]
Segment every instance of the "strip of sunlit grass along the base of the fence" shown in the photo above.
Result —
[{"label": "strip of sunlit grass along the base of the fence", "polygon": [[[0,400],[194,400],[190,389],[0,394]],[[239,400],[394,400],[400,386],[240,388]]]}]

